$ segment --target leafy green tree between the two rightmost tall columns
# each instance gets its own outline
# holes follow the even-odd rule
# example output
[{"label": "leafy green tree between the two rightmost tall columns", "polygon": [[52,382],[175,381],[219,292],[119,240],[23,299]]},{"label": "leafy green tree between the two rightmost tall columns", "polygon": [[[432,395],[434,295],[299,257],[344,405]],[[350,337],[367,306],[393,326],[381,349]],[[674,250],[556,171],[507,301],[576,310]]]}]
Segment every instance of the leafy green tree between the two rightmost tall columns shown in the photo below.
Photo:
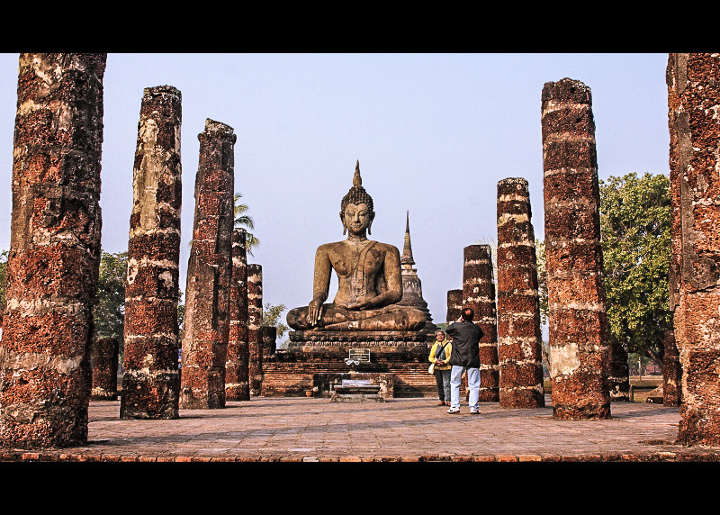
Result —
[{"label": "leafy green tree between the two rightmost tall columns", "polygon": [[611,343],[662,366],[671,329],[670,180],[645,172],[600,185],[600,230]]}]

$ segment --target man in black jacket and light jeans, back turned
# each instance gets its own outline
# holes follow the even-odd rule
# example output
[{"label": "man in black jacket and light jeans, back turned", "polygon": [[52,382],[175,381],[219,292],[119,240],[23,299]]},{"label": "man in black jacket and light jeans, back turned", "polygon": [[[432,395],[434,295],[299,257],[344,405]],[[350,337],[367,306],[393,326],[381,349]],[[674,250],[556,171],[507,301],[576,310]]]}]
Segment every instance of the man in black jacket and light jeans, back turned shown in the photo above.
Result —
[{"label": "man in black jacket and light jeans, back turned", "polygon": [[453,338],[453,353],[450,355],[450,409],[448,413],[460,412],[460,380],[467,371],[470,390],[468,405],[470,414],[480,413],[480,339],[482,329],[473,323],[473,308],[463,308],[463,314],[446,328],[447,336]]}]

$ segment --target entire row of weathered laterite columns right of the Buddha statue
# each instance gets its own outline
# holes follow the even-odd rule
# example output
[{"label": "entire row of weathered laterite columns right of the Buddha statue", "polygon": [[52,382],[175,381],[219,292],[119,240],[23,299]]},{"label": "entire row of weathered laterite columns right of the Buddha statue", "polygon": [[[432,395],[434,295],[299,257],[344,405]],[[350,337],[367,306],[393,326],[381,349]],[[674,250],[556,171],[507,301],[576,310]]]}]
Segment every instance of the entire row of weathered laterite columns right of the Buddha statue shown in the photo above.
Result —
[{"label": "entire row of weathered laterite columns right of the Buddha statue", "polygon": [[[716,54],[670,55],[675,330],[665,335],[663,391],[667,405],[681,406],[679,440],[687,443],[720,441],[720,381],[707,374],[720,363],[715,351],[720,320],[718,72]],[[608,344],[591,104],[590,88],[580,81],[565,78],[543,89],[552,399],[554,418],[565,420],[608,419],[611,399],[626,400],[629,390],[626,350]],[[500,181],[497,344],[490,246],[464,249],[463,290],[447,293],[448,323],[464,305],[478,313],[476,323],[488,340],[481,342],[482,400],[499,400],[506,407],[544,403],[533,240],[527,182]]]}]

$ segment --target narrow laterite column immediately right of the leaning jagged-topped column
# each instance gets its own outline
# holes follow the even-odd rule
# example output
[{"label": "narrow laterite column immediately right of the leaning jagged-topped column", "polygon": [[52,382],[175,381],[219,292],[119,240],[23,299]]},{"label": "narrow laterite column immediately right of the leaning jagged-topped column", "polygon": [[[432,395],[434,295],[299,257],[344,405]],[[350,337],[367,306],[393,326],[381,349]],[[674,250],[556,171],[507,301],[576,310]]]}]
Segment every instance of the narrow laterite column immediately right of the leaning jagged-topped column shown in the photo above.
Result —
[{"label": "narrow laterite column immediately right of the leaning jagged-topped column", "polygon": [[232,282],[230,330],[225,362],[225,400],[249,401],[249,348],[247,347],[247,249],[244,229],[232,230]]}]

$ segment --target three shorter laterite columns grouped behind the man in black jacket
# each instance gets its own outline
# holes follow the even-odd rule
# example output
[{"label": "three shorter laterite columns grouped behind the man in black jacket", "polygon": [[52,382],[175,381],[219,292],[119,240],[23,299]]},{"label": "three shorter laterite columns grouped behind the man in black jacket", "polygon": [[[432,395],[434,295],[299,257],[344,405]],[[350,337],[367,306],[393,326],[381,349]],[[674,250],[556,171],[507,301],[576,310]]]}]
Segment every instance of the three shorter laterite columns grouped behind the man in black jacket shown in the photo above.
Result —
[{"label": "three shorter laterite columns grouped behind the man in black jacket", "polygon": [[463,289],[447,292],[447,322],[473,307],[480,341],[481,402],[545,406],[535,233],[527,181],[498,184],[497,299],[490,245],[464,248]]}]

